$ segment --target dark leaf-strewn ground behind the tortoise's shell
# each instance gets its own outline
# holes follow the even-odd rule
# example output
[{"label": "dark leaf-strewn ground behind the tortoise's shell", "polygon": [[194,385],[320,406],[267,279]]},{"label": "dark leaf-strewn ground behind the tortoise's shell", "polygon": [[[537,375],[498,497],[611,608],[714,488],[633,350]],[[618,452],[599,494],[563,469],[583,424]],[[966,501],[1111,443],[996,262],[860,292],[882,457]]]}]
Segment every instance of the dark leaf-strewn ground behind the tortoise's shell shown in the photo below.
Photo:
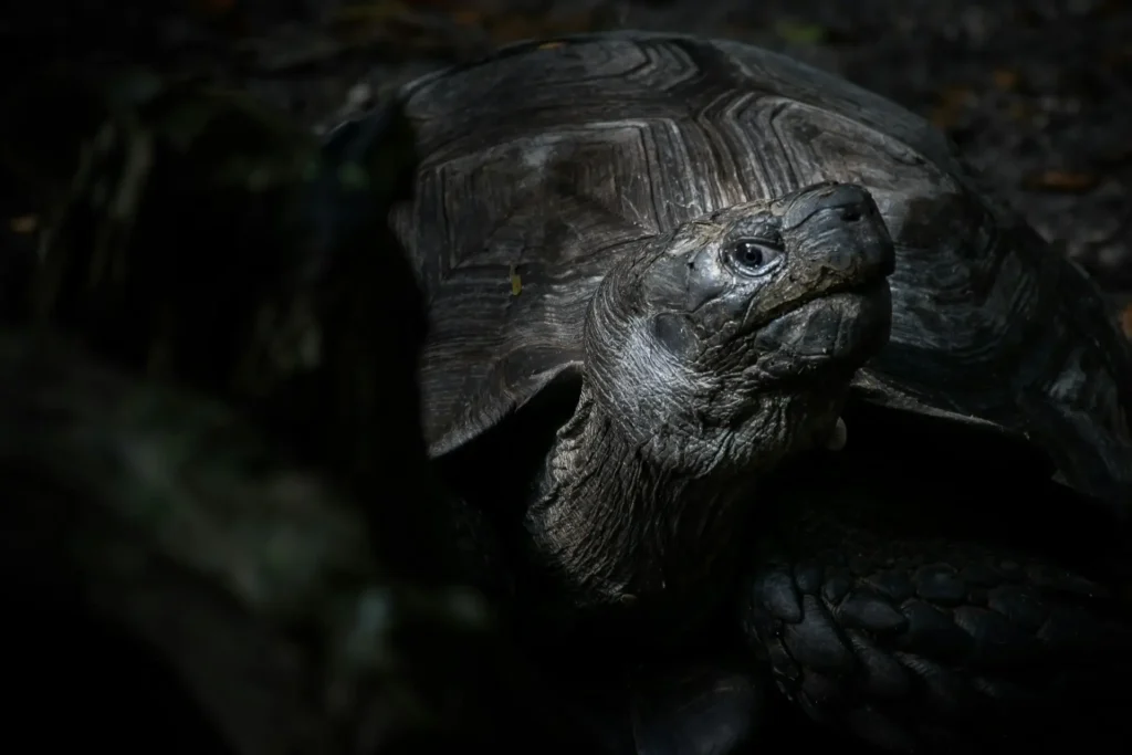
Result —
[{"label": "dark leaf-strewn ground behind the tortoise's shell", "polygon": [[[158,10],[171,6],[178,10]],[[315,128],[428,70],[535,36],[635,27],[786,52],[945,130],[1041,234],[1095,275],[1132,336],[1132,0],[155,0],[145,8],[91,11],[112,29],[104,45],[123,29],[129,36],[131,24],[134,37],[145,27],[178,67],[234,77]]]}]

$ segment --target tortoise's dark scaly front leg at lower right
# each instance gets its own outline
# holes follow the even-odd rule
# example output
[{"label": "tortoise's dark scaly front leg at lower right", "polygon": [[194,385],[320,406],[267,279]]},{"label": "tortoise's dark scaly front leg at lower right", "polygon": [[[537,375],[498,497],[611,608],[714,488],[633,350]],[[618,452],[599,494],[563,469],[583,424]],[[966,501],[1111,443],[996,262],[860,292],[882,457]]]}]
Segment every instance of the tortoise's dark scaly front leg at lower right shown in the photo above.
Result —
[{"label": "tortoise's dark scaly front leg at lower right", "polygon": [[745,629],[811,719],[900,753],[1053,752],[1126,731],[1118,594],[1036,557],[902,546],[756,576]]}]

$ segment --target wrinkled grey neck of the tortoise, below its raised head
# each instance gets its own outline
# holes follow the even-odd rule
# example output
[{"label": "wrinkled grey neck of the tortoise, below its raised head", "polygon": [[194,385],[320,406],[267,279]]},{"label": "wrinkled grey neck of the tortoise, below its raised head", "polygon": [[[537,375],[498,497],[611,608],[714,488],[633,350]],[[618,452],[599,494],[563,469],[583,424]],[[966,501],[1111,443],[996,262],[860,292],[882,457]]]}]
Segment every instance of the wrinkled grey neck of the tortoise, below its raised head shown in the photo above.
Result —
[{"label": "wrinkled grey neck of the tortoise, below its raised head", "polygon": [[672,604],[688,614],[691,595],[706,598],[705,582],[721,582],[749,507],[729,505],[734,481],[650,462],[624,424],[583,384],[524,524],[574,606]]}]

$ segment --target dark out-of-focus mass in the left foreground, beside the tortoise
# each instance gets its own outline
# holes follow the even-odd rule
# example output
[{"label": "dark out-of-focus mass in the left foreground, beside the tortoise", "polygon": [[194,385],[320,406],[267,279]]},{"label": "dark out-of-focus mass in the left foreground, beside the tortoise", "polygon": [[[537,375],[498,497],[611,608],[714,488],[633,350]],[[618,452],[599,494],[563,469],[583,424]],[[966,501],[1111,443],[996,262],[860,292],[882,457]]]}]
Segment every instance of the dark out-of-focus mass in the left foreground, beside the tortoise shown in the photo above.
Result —
[{"label": "dark out-of-focus mass in the left foreground, beside the tortoise", "polygon": [[127,752],[594,752],[496,620],[490,533],[427,472],[424,317],[384,222],[398,114],[324,151],[144,68],[3,96],[0,178],[34,217],[0,249],[18,720],[43,741],[93,714],[87,745]]}]

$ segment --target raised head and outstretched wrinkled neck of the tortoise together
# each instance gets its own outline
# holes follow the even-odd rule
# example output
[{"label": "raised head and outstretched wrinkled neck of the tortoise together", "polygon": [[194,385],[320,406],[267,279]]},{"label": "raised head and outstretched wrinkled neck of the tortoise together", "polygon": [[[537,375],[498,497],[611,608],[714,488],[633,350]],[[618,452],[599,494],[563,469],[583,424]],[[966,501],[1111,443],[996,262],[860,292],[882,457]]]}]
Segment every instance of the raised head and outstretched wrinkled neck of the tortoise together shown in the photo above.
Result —
[{"label": "raised head and outstretched wrinkled neck of the tortoise together", "polygon": [[677,615],[711,594],[751,482],[838,431],[852,375],[889,335],[893,260],[872,197],[847,185],[736,205],[621,252],[524,520],[575,607],[663,601]]}]

